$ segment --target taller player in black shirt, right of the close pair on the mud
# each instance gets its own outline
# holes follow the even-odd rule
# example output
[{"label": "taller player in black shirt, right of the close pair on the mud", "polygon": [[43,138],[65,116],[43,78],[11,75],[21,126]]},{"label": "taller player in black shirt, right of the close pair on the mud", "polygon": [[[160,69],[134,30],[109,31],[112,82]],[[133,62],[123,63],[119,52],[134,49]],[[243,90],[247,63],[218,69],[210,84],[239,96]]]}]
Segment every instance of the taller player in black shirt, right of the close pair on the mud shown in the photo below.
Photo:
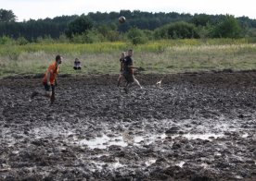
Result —
[{"label": "taller player in black shirt, right of the close pair on the mud", "polygon": [[127,83],[124,87],[125,93],[128,93],[129,87],[134,82],[136,85],[138,85],[140,87],[140,89],[142,89],[139,81],[136,78],[134,78],[134,68],[136,68],[136,67],[134,66],[134,59],[132,57],[133,55],[134,55],[134,50],[132,50],[132,49],[128,50],[128,54],[127,54],[127,56],[125,56],[124,61],[123,61],[123,77],[127,81]]}]

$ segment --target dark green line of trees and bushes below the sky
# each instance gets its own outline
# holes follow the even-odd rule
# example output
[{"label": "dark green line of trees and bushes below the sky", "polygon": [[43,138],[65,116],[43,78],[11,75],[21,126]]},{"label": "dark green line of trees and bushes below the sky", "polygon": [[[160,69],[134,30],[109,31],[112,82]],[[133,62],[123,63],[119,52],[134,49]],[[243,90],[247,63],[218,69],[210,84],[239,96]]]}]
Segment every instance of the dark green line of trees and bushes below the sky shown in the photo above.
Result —
[{"label": "dark green line of trees and bushes below the sky", "polygon": [[[127,20],[120,24],[118,18]],[[58,40],[65,42],[114,42],[134,44],[148,40],[185,38],[243,38],[256,36],[256,19],[232,15],[152,13],[139,10],[90,12],[87,15],[30,19],[17,22],[11,10],[0,9],[0,37],[20,43]]]}]

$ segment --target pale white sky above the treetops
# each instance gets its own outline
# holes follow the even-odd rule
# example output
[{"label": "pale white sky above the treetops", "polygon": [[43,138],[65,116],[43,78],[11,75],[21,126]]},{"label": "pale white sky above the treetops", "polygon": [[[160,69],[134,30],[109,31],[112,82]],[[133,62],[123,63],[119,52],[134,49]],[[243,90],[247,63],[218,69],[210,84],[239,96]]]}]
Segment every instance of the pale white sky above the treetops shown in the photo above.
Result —
[{"label": "pale white sky above the treetops", "polygon": [[12,10],[19,21],[123,9],[256,18],[255,5],[255,0],[0,0],[0,8]]}]

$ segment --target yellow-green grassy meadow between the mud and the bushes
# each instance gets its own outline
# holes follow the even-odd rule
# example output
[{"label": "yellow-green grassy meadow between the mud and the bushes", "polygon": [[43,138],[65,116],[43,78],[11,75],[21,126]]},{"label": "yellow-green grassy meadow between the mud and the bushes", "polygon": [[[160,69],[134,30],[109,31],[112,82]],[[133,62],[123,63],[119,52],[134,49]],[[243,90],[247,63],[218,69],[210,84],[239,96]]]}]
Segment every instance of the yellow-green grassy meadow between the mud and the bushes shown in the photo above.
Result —
[{"label": "yellow-green grassy meadow between the mud and the bushes", "polygon": [[[133,46],[125,42],[92,44],[31,43],[0,45],[0,77],[41,74],[56,54],[64,57],[61,74],[118,74],[120,53],[134,48],[134,64],[143,73],[255,69],[256,43],[246,39],[172,40]],[[78,57],[82,71],[72,69]]]}]

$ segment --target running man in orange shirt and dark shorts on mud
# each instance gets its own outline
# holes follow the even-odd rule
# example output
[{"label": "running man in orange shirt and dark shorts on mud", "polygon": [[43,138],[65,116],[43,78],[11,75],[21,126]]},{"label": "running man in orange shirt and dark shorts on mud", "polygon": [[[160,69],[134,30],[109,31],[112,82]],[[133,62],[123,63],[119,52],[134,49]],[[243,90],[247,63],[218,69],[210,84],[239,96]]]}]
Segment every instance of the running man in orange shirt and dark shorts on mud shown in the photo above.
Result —
[{"label": "running man in orange shirt and dark shorts on mud", "polygon": [[37,95],[42,95],[50,98],[51,103],[55,101],[55,87],[57,86],[57,75],[58,66],[62,63],[62,57],[58,54],[55,58],[55,62],[48,66],[45,72],[45,77],[43,78],[43,85],[45,86],[45,93],[40,93],[38,91],[32,92],[32,99]]}]

